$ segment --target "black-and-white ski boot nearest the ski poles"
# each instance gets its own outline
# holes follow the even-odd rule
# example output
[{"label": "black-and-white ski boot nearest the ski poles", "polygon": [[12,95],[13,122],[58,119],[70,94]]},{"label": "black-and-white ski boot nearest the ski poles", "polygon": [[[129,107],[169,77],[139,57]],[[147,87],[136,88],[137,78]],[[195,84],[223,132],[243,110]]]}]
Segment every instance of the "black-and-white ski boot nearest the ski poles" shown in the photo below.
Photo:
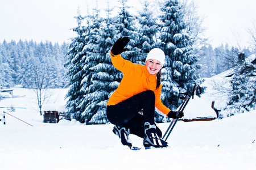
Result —
[{"label": "black-and-white ski boot nearest the ski poles", "polygon": [[144,123],[144,140],[143,145],[145,148],[150,147],[168,147],[168,143],[161,139],[156,133],[156,126],[150,122]]}]

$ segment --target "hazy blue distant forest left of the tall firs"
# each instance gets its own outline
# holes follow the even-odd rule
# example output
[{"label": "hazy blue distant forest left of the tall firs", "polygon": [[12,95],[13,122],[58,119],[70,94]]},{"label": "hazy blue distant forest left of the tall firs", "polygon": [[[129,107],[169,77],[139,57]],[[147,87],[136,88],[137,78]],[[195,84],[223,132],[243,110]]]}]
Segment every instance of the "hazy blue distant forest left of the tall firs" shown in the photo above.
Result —
[{"label": "hazy blue distant forest left of the tall firs", "polygon": [[[56,52],[59,50],[60,54],[57,54]],[[18,43],[15,41],[10,43],[3,41],[1,54],[3,59],[2,66],[5,68],[1,71],[5,72],[7,79],[3,86],[13,87],[21,84],[24,87],[28,87],[25,81],[31,78],[33,73],[31,70],[32,65],[40,65],[47,67],[47,70],[51,73],[49,75],[52,78],[52,83],[49,88],[58,88],[60,84],[62,84],[61,87],[64,87],[63,77],[66,73],[64,56],[67,54],[67,45],[65,45],[65,48],[59,49],[58,46],[53,46],[48,41],[45,43],[40,42],[40,44],[32,40],[30,42],[19,40]]]}]

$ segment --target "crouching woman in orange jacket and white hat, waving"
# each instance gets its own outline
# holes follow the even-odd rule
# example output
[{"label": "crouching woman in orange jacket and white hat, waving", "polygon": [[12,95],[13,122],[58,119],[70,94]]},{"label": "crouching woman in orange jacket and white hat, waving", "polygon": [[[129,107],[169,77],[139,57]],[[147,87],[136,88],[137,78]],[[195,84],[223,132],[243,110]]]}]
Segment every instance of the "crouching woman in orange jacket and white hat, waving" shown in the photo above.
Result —
[{"label": "crouching woman in orange jacket and white hat, waving", "polygon": [[[160,94],[160,70],[164,65],[164,52],[152,49],[146,58],[146,65],[131,63],[121,57],[121,53],[129,42],[128,37],[118,39],[111,50],[114,67],[123,73],[117,90],[110,96],[106,114],[114,124],[113,132],[121,138],[123,145],[132,146],[129,134],[144,138],[144,147],[167,147],[162,132],[155,125],[155,111],[171,118],[183,117],[183,113],[171,111],[163,105]],[[143,115],[139,111],[143,110]]]}]

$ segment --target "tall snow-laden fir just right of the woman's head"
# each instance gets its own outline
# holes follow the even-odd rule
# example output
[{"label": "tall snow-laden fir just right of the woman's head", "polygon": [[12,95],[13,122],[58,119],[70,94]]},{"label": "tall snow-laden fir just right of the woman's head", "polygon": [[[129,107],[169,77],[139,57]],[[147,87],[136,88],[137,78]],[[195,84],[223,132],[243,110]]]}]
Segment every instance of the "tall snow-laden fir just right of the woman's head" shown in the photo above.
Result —
[{"label": "tall snow-laden fir just right of the woman's head", "polygon": [[162,69],[161,97],[164,105],[176,109],[180,104],[180,92],[192,90],[193,83],[197,79],[195,71],[199,66],[195,65],[197,58],[192,53],[193,41],[185,32],[183,6],[179,5],[177,0],[167,0],[161,11],[163,14],[160,16],[162,20],[160,40],[161,48],[166,54],[166,64]]}]

